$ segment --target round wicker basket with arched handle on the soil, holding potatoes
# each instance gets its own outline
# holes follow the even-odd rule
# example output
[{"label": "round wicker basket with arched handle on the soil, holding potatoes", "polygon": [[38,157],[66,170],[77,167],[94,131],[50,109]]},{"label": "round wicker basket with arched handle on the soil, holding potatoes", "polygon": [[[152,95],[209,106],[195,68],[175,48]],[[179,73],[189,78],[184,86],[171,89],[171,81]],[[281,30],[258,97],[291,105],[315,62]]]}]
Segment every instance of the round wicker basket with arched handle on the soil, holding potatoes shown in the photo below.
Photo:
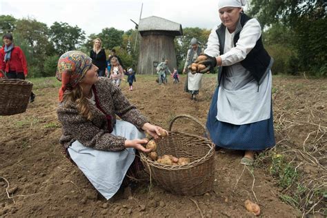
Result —
[{"label": "round wicker basket with arched handle on the soil, holding potatoes", "polygon": [[[189,157],[190,164],[182,166],[158,164],[142,152],[141,161],[150,177],[173,194],[203,195],[212,189],[215,180],[215,147],[205,137],[171,131],[172,124],[179,118],[188,118],[199,123],[189,115],[179,115],[172,119],[168,137],[157,142],[157,153],[159,156]],[[206,127],[201,126],[206,130]],[[208,134],[207,130],[206,132]]]}]

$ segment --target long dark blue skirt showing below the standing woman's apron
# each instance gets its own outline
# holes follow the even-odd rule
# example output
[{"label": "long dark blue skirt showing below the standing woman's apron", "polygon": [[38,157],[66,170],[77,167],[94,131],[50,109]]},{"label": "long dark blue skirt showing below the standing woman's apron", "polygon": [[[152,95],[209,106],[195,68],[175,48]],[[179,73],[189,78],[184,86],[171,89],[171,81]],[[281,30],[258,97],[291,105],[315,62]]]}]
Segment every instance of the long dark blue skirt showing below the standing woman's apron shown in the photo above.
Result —
[{"label": "long dark blue skirt showing below the standing woman's apron", "polygon": [[265,150],[275,146],[273,106],[270,119],[234,125],[217,120],[217,97],[219,87],[212,97],[206,127],[216,146],[232,150]]}]

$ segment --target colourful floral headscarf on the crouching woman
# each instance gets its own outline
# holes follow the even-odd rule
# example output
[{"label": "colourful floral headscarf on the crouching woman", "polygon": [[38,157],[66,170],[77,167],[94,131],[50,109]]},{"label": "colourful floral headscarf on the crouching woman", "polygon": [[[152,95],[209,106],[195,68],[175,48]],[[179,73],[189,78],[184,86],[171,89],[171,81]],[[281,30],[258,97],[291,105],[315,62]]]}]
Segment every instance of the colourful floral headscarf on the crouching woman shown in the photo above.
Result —
[{"label": "colourful floral headscarf on the crouching woman", "polygon": [[58,61],[56,77],[61,81],[59,101],[63,99],[66,90],[75,88],[92,66],[92,59],[79,51],[69,51],[62,54]]}]

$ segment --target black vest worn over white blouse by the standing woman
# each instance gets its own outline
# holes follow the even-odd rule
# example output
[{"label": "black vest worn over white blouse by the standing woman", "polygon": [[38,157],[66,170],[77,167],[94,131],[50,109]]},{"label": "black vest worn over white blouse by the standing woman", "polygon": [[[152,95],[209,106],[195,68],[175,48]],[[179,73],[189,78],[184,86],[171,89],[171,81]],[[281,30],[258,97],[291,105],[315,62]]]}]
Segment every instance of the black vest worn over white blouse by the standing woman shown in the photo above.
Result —
[{"label": "black vest worn over white blouse by the standing woman", "polygon": [[[248,20],[252,19],[248,17],[246,14],[241,13],[239,18],[239,22],[237,23],[237,27],[235,30],[235,37],[234,37],[234,46],[236,46],[237,41],[239,40],[239,34],[243,29],[244,25]],[[225,47],[225,31],[226,26],[221,24],[216,32],[219,39],[219,51],[220,55],[224,54],[224,47]],[[246,70],[250,71],[251,75],[255,78],[258,83],[258,86],[264,81],[264,78],[268,74],[271,66],[273,65],[273,58],[271,58],[268,52],[264,49],[264,45],[261,40],[261,36],[258,39],[255,47],[246,55],[246,59],[240,62],[241,66],[246,68]],[[218,81],[220,84],[221,77],[226,73],[226,67],[219,67],[218,71]]]}]

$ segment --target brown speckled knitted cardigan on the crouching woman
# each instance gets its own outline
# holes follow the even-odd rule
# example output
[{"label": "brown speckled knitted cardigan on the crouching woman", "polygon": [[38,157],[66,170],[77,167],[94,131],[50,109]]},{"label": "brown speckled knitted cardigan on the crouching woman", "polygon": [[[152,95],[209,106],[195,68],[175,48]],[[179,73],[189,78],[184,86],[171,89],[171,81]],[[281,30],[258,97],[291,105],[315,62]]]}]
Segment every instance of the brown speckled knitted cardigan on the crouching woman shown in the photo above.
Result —
[{"label": "brown speckled knitted cardigan on the crouching woman", "polygon": [[[139,110],[128,102],[120,88],[112,84],[108,78],[99,78],[94,86],[100,107],[113,117],[112,127],[115,126],[115,115],[118,115],[124,121],[132,123],[139,129],[144,123],[148,122],[148,119],[143,117]],[[60,143],[68,148],[75,140],[78,140],[83,146],[97,150],[123,150],[126,138],[111,135],[108,132],[106,115],[92,103],[89,106],[92,112],[91,120],[79,115],[75,102],[59,103],[57,114],[62,126]]]}]

